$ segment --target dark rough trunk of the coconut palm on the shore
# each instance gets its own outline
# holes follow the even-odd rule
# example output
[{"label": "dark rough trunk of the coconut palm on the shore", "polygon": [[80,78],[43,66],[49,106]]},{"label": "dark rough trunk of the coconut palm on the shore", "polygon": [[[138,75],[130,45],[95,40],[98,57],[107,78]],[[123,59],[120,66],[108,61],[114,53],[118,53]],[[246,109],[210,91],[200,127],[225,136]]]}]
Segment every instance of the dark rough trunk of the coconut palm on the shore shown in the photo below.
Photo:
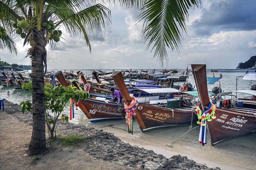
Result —
[{"label": "dark rough trunk of the coconut palm on the shore", "polygon": [[43,58],[47,51],[43,46],[35,45],[31,47],[30,54],[32,56],[33,130],[28,155],[33,156],[46,150]]}]

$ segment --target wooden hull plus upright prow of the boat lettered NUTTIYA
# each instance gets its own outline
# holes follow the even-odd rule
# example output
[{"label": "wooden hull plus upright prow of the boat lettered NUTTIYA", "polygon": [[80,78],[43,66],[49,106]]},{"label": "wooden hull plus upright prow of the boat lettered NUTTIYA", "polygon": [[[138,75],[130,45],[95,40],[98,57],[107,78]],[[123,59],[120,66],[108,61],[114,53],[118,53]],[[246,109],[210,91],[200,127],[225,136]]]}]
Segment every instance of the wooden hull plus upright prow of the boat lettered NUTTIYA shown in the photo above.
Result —
[{"label": "wooden hull plus upright prow of the boat lettered NUTTIYA", "polygon": [[[209,105],[206,66],[200,64],[192,64],[191,66],[201,101],[201,107],[205,110]],[[255,104],[253,106],[255,106]],[[247,133],[256,130],[255,111],[248,112],[250,112],[250,109],[224,109],[217,107],[215,110],[216,119],[207,121],[212,145],[225,139],[246,135]]]}]

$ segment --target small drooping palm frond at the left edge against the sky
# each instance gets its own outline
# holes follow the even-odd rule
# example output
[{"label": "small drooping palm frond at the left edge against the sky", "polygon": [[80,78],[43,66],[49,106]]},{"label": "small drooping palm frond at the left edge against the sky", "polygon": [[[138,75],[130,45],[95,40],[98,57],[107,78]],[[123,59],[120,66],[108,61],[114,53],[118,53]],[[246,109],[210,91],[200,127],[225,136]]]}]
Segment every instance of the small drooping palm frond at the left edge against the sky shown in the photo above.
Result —
[{"label": "small drooping palm frond at the left edge against the sky", "polygon": [[16,44],[14,40],[7,35],[6,30],[0,26],[0,49],[8,49],[14,55],[17,55]]}]

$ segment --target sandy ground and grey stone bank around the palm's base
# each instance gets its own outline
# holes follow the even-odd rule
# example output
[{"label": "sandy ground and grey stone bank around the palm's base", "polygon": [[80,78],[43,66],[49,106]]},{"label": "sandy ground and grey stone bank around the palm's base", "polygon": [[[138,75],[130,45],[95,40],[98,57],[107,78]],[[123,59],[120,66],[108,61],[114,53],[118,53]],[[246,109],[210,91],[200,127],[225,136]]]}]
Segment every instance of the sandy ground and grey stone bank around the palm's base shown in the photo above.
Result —
[{"label": "sandy ground and grey stone bank around the palm's base", "polygon": [[[124,143],[113,133],[63,122],[58,126],[57,135],[89,136],[89,142],[79,147],[63,147],[61,144],[50,144],[50,148],[48,147],[47,151],[41,154],[42,158],[36,164],[31,164],[29,162],[33,160],[33,157],[24,156],[24,154],[28,149],[31,138],[32,114],[22,114],[17,104],[6,100],[4,102],[5,112],[0,112],[0,169],[40,169],[46,166],[61,169],[59,163],[65,164],[68,161],[70,164],[65,164],[65,169],[73,169],[73,166],[81,169],[81,164],[84,164],[86,169],[101,169],[100,167],[102,167],[117,170],[167,170],[170,168],[220,170],[219,168],[208,168],[204,164],[197,164],[186,156],[175,155],[166,158],[161,154],[154,153],[153,150]],[[58,157],[58,159],[55,159],[55,157]],[[85,158],[90,159],[90,161],[83,162]],[[87,167],[86,164],[90,164],[91,167]]]}]

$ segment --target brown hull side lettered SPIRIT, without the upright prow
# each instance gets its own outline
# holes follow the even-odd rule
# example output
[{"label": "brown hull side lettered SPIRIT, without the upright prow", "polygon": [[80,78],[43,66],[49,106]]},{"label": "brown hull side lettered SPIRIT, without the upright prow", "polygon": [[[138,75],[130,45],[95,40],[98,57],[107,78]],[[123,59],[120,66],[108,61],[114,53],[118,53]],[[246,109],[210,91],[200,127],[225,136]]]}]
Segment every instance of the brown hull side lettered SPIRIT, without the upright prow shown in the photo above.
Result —
[{"label": "brown hull side lettered SPIRIT, without the upright prow", "polygon": [[189,124],[197,120],[195,113],[190,109],[173,109],[172,111],[163,107],[139,104],[137,111],[134,117],[143,133],[158,127]]}]

